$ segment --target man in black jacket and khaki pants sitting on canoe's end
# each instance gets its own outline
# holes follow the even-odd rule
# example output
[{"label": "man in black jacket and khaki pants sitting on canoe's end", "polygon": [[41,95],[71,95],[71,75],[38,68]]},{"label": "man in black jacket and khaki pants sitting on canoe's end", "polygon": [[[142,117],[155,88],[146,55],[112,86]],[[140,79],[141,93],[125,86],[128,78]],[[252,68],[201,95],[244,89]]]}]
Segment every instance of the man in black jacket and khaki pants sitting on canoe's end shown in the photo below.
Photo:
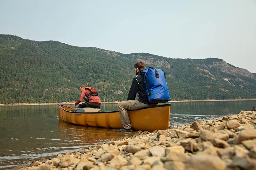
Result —
[{"label": "man in black jacket and khaki pants sitting on canoe's end", "polygon": [[[151,104],[148,102],[144,76],[142,70],[145,70],[145,64],[143,62],[137,62],[134,64],[136,76],[132,79],[132,85],[128,93],[127,101],[122,101],[117,104],[119,115],[124,128],[117,131],[133,131],[132,124],[130,122],[127,110],[137,110],[144,107],[156,106],[157,104]],[[139,99],[135,100],[138,93]],[[141,120],[143,121],[143,120]]]}]

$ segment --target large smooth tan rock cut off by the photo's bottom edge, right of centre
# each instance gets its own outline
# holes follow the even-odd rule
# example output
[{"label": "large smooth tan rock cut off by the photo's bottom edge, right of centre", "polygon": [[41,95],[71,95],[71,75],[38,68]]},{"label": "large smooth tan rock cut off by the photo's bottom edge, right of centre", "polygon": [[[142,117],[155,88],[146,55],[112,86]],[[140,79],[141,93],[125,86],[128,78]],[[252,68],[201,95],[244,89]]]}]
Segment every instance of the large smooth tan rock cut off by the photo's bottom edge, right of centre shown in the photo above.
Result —
[{"label": "large smooth tan rock cut off by the photo's bottom edge, right of centre", "polygon": [[226,163],[218,156],[192,155],[185,166],[185,170],[226,170]]}]

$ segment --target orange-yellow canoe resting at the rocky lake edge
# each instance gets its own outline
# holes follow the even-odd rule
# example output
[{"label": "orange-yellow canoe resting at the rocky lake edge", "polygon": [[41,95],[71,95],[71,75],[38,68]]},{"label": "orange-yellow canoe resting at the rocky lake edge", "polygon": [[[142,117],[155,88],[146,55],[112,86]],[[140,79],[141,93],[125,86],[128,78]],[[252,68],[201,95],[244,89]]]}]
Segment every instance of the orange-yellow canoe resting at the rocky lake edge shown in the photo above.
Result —
[{"label": "orange-yellow canoe resting at the rocky lake edge", "polygon": [[[134,130],[164,130],[169,126],[171,104],[128,111]],[[72,107],[59,104],[59,120],[82,126],[121,129],[119,112],[71,112]]]}]

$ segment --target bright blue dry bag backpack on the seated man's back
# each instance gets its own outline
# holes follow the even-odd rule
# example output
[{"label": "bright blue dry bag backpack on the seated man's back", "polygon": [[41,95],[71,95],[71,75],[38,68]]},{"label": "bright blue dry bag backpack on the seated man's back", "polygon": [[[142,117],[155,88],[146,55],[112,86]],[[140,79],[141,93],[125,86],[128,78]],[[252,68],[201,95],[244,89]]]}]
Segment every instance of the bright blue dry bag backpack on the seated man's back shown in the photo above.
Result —
[{"label": "bright blue dry bag backpack on the seated man's back", "polygon": [[150,103],[165,103],[171,100],[163,70],[149,67],[143,70],[142,73]]}]

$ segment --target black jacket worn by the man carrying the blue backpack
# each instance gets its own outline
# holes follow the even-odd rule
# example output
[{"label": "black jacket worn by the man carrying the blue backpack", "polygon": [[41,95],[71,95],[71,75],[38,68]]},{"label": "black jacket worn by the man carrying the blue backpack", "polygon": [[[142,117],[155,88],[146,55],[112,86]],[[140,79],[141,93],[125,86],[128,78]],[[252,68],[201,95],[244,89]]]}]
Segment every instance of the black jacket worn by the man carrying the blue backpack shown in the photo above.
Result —
[{"label": "black jacket worn by the man carrying the blue backpack", "polygon": [[128,93],[127,100],[135,100],[136,94],[139,95],[139,101],[144,104],[151,104],[148,102],[146,86],[144,83],[144,76],[142,73],[143,70],[140,70],[136,76],[132,79],[132,86]]}]

